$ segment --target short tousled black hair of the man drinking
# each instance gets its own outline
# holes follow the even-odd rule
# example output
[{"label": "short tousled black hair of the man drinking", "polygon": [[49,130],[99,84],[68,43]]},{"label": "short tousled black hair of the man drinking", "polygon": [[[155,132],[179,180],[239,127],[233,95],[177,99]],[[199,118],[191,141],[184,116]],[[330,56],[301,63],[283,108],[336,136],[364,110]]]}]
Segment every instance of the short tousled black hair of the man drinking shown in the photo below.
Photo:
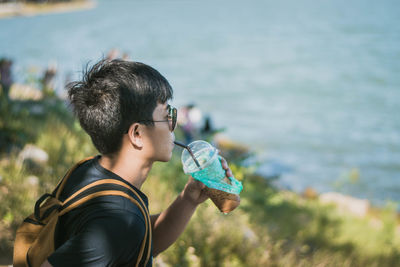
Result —
[{"label": "short tousled black hair of the man drinking", "polygon": [[103,59],[86,67],[82,81],[68,85],[68,96],[82,128],[107,155],[119,151],[132,123],[153,120],[157,104],[172,99],[173,90],[146,64]]}]

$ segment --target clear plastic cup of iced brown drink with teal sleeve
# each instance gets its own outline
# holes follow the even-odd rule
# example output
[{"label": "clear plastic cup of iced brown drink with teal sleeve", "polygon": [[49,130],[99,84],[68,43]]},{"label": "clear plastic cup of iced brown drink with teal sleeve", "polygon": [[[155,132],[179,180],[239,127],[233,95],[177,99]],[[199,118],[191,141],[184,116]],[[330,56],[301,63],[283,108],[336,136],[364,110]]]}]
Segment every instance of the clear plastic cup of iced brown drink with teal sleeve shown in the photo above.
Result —
[{"label": "clear plastic cup of iced brown drink with teal sleeve", "polygon": [[207,186],[205,193],[221,212],[228,213],[239,206],[242,183],[234,177],[226,177],[215,147],[205,141],[194,141],[183,150],[181,160],[184,172]]}]

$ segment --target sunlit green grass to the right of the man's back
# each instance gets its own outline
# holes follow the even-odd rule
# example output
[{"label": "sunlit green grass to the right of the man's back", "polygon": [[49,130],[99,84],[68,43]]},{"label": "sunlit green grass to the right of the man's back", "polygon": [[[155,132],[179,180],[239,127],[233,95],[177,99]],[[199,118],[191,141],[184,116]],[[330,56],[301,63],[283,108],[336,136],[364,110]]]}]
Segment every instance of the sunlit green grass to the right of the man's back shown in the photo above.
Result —
[{"label": "sunlit green grass to the right of the man's back", "polygon": [[[150,196],[158,194],[155,212],[172,202],[171,191],[185,180],[179,165],[175,175],[161,171],[167,166],[156,166],[145,185]],[[394,266],[400,261],[393,207],[379,217],[358,218],[293,192],[278,191],[251,173],[236,176],[246,177],[241,206],[228,215],[219,213],[211,201],[201,206],[178,242],[161,254],[163,262],[170,266]]]}]

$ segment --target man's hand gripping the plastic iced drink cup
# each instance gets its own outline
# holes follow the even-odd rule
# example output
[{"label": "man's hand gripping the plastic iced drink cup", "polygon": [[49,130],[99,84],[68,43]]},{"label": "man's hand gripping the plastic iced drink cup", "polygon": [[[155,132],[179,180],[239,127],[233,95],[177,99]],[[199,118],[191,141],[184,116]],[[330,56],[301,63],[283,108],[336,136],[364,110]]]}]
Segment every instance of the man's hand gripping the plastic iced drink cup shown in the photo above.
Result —
[{"label": "man's hand gripping the plastic iced drink cup", "polygon": [[[225,174],[227,177],[232,177],[232,171],[228,166],[228,163],[223,157],[220,157],[222,168],[225,170]],[[192,203],[193,205],[198,205],[203,203],[208,199],[208,196],[204,193],[204,188],[206,186],[200,182],[195,180],[193,177],[190,176],[189,181],[186,183],[185,188],[182,192],[182,197]]]}]

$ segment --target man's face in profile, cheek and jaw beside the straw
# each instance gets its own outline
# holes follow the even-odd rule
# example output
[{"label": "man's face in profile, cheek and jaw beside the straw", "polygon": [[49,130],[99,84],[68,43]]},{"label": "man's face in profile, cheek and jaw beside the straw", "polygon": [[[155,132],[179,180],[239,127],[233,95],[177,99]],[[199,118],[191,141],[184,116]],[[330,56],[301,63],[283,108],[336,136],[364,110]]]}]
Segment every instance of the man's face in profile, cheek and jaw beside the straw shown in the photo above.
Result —
[{"label": "man's face in profile, cheek and jaw beside the straw", "polygon": [[174,148],[175,135],[168,122],[168,104],[157,104],[153,111],[154,125],[145,127],[144,147],[154,161],[169,161]]}]

